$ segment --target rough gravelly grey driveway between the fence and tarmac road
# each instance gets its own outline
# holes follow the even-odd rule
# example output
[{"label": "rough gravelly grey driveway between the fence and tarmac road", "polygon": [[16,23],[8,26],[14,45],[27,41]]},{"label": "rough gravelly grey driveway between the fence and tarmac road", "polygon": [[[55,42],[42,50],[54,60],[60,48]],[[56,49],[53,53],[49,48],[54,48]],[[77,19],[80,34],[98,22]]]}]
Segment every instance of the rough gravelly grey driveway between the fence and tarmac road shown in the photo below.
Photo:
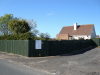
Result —
[{"label": "rough gravelly grey driveway between the fence and tarmac road", "polygon": [[50,75],[100,75],[100,48],[73,55],[30,58],[0,52],[0,58]]}]

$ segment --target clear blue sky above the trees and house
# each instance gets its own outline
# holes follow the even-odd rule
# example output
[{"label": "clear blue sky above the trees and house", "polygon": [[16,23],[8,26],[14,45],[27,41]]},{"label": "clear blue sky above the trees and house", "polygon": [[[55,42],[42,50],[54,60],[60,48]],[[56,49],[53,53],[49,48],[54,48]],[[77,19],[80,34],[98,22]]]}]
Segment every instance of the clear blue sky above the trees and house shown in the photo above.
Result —
[{"label": "clear blue sky above the trees and house", "polygon": [[63,26],[94,24],[100,35],[100,0],[0,0],[0,16],[34,19],[40,32],[52,38]]}]

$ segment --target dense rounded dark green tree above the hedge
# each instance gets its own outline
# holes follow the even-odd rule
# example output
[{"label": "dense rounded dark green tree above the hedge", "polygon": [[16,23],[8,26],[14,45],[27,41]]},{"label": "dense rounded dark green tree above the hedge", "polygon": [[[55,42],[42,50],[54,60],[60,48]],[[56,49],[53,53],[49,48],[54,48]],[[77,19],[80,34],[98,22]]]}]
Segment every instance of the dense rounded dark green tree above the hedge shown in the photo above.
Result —
[{"label": "dense rounded dark green tree above the hedge", "polygon": [[8,28],[14,33],[26,33],[30,31],[30,26],[26,20],[11,20],[8,23]]}]

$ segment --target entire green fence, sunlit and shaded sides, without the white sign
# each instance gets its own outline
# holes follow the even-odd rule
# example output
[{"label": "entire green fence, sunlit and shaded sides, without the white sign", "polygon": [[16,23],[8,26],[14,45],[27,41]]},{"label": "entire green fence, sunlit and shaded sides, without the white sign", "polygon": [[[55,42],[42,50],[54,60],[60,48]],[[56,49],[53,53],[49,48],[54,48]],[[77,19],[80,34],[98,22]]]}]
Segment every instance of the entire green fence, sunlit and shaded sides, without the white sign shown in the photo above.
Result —
[{"label": "entire green fence, sunlit and shaded sides, without the white sign", "polygon": [[60,55],[89,46],[100,46],[100,39],[42,41],[42,49],[35,49],[35,40],[0,40],[0,51],[27,57]]}]

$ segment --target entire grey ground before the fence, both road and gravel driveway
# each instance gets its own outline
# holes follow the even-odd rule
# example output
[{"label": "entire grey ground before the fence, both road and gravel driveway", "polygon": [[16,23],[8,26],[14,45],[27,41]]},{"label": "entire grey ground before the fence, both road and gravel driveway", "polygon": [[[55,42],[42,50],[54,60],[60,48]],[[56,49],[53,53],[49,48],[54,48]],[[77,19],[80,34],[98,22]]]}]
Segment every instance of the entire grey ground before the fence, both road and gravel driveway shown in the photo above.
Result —
[{"label": "entire grey ground before the fence, both road and gravel driveway", "polygon": [[0,75],[100,75],[100,48],[69,56],[31,58],[0,53],[0,58],[4,59],[0,59]]}]

